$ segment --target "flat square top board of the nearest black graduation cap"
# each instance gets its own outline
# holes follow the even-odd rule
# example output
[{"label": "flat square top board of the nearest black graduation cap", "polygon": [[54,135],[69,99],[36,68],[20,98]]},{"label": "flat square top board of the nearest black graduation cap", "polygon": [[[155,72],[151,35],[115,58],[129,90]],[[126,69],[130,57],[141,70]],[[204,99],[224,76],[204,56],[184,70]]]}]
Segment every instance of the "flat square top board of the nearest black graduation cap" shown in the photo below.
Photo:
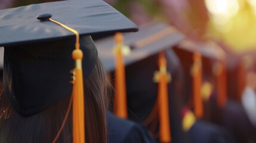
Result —
[{"label": "flat square top board of the nearest black graduation cap", "polygon": [[47,2],[1,10],[0,46],[75,38],[58,24],[36,18],[45,13],[77,30],[81,36],[138,30],[132,21],[101,0]]}]

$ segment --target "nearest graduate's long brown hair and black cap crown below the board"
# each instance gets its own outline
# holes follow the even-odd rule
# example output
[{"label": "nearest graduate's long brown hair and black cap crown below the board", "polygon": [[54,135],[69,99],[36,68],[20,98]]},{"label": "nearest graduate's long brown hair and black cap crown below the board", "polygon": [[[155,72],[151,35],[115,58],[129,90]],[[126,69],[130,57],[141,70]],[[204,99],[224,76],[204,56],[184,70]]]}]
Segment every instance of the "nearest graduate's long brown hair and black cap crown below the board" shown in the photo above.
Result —
[{"label": "nearest graduate's long brown hair and black cap crown below the board", "polygon": [[[90,36],[81,50],[95,49]],[[0,99],[0,142],[52,142],[69,106],[73,61],[69,39],[5,47],[4,84]],[[92,50],[97,53],[97,50]],[[87,142],[106,142],[106,75],[97,56],[83,62]],[[91,69],[90,69],[91,68]],[[24,132],[26,130],[26,132]],[[57,142],[72,142],[72,114]]]}]

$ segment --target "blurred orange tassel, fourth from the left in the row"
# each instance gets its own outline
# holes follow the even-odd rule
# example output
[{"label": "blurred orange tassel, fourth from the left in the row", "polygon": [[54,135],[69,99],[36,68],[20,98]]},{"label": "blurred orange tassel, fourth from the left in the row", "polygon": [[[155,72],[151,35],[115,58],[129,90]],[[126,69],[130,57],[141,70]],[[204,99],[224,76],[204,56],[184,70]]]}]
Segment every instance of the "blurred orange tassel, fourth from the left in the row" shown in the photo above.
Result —
[{"label": "blurred orange tassel, fourth from the left in the row", "polygon": [[202,86],[202,66],[201,54],[195,52],[193,55],[194,64],[192,66],[193,77],[193,101],[195,116],[200,119],[203,116],[203,101],[201,95]]}]

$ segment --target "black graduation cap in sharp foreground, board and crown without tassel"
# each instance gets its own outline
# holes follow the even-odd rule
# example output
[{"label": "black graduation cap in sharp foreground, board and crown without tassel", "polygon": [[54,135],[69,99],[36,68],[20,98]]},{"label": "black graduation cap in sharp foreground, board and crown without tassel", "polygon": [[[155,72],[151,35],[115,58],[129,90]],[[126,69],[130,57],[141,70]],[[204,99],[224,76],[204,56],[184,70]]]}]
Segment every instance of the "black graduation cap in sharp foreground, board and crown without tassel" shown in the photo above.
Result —
[{"label": "black graduation cap in sharp foreground, board and crown without tassel", "polygon": [[97,60],[90,35],[135,32],[137,26],[100,0],[58,1],[0,11],[0,46],[4,46],[4,85],[22,116],[31,116],[70,95],[75,34],[42,14],[78,31],[84,52],[84,79]]}]

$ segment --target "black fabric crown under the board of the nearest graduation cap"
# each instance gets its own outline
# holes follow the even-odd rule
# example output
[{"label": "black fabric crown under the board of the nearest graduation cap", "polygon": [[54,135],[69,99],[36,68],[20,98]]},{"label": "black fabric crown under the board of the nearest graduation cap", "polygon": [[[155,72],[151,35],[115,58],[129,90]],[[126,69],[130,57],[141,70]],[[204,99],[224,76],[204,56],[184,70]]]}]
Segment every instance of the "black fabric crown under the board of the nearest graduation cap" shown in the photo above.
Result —
[{"label": "black fabric crown under the board of the nearest graduation cap", "polygon": [[[5,47],[4,88],[21,116],[32,116],[72,93],[70,70],[75,39]],[[84,80],[94,68],[97,49],[90,36],[80,40]]]}]

